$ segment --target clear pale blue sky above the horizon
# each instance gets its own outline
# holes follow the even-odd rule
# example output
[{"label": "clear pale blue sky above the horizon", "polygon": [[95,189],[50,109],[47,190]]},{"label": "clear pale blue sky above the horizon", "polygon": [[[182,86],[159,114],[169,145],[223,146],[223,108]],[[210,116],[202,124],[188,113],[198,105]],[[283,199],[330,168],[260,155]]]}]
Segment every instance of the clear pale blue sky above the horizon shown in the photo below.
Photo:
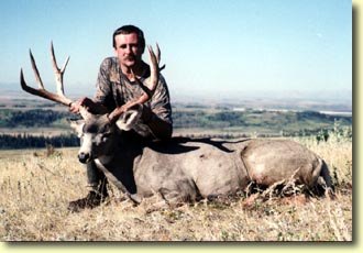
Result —
[{"label": "clear pale blue sky above the horizon", "polygon": [[19,85],[21,67],[36,86],[31,48],[52,90],[53,41],[59,65],[70,56],[65,90],[92,95],[123,24],[160,44],[174,96],[352,88],[349,0],[0,0],[0,89]]}]

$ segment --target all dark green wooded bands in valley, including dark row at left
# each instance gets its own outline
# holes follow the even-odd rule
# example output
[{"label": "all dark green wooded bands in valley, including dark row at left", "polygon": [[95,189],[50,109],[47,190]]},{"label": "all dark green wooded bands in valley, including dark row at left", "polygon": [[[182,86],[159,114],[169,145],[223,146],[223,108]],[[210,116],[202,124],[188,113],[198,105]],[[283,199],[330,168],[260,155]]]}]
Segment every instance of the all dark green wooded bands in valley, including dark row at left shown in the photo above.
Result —
[{"label": "all dark green wooded bands in valley, including dark row at left", "polygon": [[[66,119],[75,114],[55,110],[9,110],[0,109],[0,128],[68,128]],[[336,123],[341,127],[352,125],[352,117],[326,116],[315,111],[304,112],[271,112],[261,110],[231,111],[231,110],[175,110],[173,112],[175,129],[213,129],[220,130],[219,138],[231,139],[249,136],[251,130],[257,136],[307,136],[319,135],[327,139],[322,130],[332,130]],[[229,128],[238,127],[234,134],[228,133]],[[250,129],[249,129],[250,128]],[[268,133],[264,130],[270,130]],[[265,134],[262,134],[265,133]],[[346,135],[346,134],[345,134]],[[210,135],[211,136],[211,135]],[[212,136],[211,136],[212,138]],[[76,134],[61,134],[57,136],[31,134],[0,134],[0,148],[79,146]]]}]

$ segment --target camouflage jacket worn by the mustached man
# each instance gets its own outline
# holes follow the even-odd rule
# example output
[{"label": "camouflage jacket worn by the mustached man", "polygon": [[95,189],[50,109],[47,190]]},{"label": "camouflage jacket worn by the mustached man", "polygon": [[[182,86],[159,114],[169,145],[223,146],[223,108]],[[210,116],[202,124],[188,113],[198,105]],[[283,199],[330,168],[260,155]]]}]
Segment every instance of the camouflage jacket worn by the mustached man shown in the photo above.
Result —
[{"label": "camouflage jacket worn by the mustached man", "polygon": [[[148,76],[150,69],[140,80],[144,81]],[[109,111],[112,111],[116,107],[123,106],[132,99],[140,98],[143,94],[142,88],[136,82],[130,81],[122,74],[117,57],[108,57],[102,62],[96,87],[97,91],[94,101],[102,103]],[[145,106],[158,118],[158,121],[155,121],[156,123],[167,123],[172,128],[173,120],[169,92],[162,75],[160,75],[160,81],[153,97],[145,102]],[[142,133],[145,131],[147,132],[143,125],[140,125],[139,131],[136,130],[136,132],[142,135],[148,135],[147,133]]]}]

